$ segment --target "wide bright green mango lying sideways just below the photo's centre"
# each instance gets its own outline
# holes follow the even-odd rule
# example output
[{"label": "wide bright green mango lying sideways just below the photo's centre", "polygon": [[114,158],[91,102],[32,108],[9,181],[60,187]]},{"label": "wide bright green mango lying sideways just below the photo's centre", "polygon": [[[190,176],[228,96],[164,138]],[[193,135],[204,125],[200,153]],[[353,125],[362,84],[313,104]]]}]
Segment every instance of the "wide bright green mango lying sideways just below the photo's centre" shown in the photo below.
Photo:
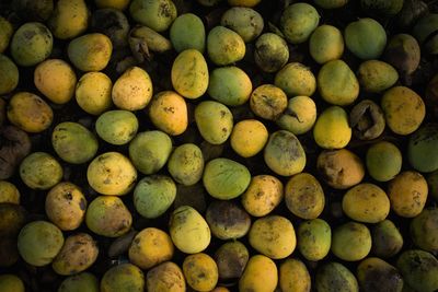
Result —
[{"label": "wide bright green mango lying sideways just below the photo's centre", "polygon": [[217,199],[230,200],[239,197],[250,182],[251,173],[246,166],[229,159],[214,159],[204,168],[204,187]]}]

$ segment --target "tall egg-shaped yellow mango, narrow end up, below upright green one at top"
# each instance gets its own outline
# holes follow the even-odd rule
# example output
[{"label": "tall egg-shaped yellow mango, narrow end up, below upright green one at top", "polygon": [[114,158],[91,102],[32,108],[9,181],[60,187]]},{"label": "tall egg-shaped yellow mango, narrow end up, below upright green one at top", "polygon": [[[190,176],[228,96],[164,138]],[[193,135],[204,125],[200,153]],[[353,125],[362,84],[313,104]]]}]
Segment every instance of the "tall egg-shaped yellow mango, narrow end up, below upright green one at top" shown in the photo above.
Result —
[{"label": "tall egg-shaped yellow mango, narrow end up, below upright green one at top", "polygon": [[200,97],[208,87],[207,62],[197,49],[186,49],[176,56],[171,70],[172,85],[187,98]]}]

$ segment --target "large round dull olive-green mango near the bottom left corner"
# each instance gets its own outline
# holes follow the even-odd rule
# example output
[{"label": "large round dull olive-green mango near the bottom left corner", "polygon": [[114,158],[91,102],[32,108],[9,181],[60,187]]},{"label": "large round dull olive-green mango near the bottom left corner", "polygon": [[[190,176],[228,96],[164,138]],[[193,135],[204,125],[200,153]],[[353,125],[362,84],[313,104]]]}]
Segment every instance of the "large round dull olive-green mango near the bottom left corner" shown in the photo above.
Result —
[{"label": "large round dull olive-green mango near the bottom left corner", "polygon": [[35,267],[50,264],[61,250],[62,245],[62,232],[47,221],[27,223],[18,237],[20,256]]}]

